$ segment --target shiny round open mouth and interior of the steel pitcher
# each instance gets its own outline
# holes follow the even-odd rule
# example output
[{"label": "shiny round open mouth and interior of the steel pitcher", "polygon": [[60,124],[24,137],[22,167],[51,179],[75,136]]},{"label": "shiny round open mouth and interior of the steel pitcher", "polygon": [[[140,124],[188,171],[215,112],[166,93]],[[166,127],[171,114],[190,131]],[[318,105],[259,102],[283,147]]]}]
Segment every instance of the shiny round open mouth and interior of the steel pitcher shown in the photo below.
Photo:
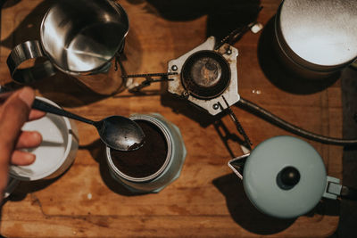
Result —
[{"label": "shiny round open mouth and interior of the steel pitcher", "polygon": [[59,70],[92,73],[111,61],[128,28],[126,13],[112,1],[62,0],[42,21],[41,43]]}]

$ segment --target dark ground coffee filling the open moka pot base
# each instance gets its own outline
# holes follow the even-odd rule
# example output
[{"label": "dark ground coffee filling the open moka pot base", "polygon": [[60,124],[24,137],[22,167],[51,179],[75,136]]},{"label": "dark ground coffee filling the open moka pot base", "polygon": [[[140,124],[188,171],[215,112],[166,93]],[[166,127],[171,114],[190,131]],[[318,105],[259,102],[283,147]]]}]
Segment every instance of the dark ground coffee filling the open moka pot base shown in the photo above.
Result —
[{"label": "dark ground coffee filling the open moka pot base", "polygon": [[144,131],[144,145],[130,152],[111,149],[112,162],[121,173],[127,176],[151,176],[162,168],[168,153],[168,145],[162,131],[153,123],[140,119],[135,122]]}]

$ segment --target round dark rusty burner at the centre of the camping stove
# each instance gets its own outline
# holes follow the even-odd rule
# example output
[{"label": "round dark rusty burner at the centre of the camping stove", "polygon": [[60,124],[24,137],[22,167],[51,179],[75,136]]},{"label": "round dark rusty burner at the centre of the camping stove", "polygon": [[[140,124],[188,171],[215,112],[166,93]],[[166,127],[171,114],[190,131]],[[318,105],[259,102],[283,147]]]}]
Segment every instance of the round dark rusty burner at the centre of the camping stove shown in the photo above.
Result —
[{"label": "round dark rusty burner at the centre of the camping stove", "polygon": [[220,53],[196,52],[184,63],[181,81],[189,94],[202,99],[215,98],[229,85],[229,64]]}]

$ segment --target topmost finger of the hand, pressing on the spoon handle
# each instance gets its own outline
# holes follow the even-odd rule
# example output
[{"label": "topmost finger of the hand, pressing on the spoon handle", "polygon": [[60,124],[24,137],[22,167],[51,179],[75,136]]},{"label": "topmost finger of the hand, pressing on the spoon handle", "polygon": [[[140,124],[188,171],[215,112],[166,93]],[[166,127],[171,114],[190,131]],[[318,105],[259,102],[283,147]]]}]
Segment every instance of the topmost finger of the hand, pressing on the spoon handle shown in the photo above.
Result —
[{"label": "topmost finger of the hand, pressing on the spoon handle", "polygon": [[30,105],[35,98],[29,87],[13,93],[1,107],[0,111],[0,160],[9,160],[21,127],[29,119]]}]

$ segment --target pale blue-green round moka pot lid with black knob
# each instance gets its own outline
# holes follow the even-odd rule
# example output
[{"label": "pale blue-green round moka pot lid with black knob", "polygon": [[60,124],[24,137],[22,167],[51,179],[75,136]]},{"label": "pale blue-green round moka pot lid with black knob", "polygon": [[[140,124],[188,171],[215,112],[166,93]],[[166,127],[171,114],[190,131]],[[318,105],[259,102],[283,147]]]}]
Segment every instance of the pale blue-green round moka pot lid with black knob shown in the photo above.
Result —
[{"label": "pale blue-green round moka pot lid with black knob", "polygon": [[326,179],[319,153],[287,135],[256,146],[243,171],[249,200],[262,212],[280,218],[298,217],[313,209],[325,191]]}]

